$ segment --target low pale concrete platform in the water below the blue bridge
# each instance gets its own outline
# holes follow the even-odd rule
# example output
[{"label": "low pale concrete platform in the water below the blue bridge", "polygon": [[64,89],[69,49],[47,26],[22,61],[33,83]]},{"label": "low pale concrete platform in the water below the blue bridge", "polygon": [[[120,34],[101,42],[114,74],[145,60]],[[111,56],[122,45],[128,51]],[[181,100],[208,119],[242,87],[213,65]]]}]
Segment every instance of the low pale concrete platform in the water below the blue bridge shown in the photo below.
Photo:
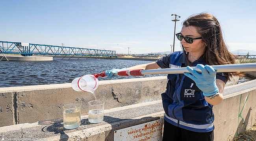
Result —
[{"label": "low pale concrete platform in the water below the blue bridge", "polygon": [[[0,58],[3,56],[0,55]],[[53,58],[49,56],[17,56],[17,55],[6,55],[9,61],[52,61]],[[2,58],[6,61],[6,58]]]}]

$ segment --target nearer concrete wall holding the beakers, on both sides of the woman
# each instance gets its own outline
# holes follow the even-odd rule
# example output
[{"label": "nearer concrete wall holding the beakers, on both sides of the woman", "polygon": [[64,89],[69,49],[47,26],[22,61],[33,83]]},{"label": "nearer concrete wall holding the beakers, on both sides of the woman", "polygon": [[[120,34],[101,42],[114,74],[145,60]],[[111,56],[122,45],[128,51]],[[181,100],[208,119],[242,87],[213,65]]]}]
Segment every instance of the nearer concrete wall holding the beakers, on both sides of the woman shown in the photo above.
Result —
[{"label": "nearer concrete wall holding the beakers, on both sides of the woman", "polygon": [[[213,107],[215,141],[231,141],[236,134],[256,123],[255,99],[256,80],[225,88],[224,101]],[[73,130],[64,130],[60,123],[25,123],[0,127],[0,137],[46,138],[50,141],[113,141],[115,130],[162,119],[163,114],[161,100],[158,100],[105,110],[104,121],[98,124],[90,124],[87,116],[82,116],[82,125]]]}]

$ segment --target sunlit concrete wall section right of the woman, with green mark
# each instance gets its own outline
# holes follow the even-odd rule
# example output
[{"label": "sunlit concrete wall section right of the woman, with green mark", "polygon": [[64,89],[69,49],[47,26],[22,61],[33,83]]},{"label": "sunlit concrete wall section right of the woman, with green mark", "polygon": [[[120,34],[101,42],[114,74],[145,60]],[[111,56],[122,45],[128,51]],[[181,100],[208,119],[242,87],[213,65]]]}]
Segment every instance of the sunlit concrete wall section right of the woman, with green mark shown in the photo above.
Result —
[{"label": "sunlit concrete wall section right of the woman, with green mark", "polygon": [[231,141],[256,123],[256,80],[228,86],[224,101],[213,107],[215,141]]}]

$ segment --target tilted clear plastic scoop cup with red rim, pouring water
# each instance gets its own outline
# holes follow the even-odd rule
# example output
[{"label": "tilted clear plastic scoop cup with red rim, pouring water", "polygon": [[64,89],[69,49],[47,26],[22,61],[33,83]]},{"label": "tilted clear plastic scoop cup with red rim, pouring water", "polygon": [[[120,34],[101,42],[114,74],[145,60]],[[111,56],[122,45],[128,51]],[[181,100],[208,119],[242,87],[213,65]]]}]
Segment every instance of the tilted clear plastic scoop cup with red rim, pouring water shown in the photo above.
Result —
[{"label": "tilted clear plastic scoop cup with red rim, pouring water", "polygon": [[72,88],[78,92],[94,92],[98,88],[98,78],[92,74],[87,74],[79,78],[75,78],[72,82]]}]

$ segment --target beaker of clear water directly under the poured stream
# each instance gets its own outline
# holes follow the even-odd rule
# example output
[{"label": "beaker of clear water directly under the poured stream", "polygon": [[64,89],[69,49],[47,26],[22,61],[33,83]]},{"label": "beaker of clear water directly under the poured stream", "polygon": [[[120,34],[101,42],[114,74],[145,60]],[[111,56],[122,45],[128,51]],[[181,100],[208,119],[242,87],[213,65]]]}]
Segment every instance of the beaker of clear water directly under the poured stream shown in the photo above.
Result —
[{"label": "beaker of clear water directly under the poured stream", "polygon": [[90,123],[100,123],[104,118],[104,102],[101,100],[89,101],[88,120]]}]

